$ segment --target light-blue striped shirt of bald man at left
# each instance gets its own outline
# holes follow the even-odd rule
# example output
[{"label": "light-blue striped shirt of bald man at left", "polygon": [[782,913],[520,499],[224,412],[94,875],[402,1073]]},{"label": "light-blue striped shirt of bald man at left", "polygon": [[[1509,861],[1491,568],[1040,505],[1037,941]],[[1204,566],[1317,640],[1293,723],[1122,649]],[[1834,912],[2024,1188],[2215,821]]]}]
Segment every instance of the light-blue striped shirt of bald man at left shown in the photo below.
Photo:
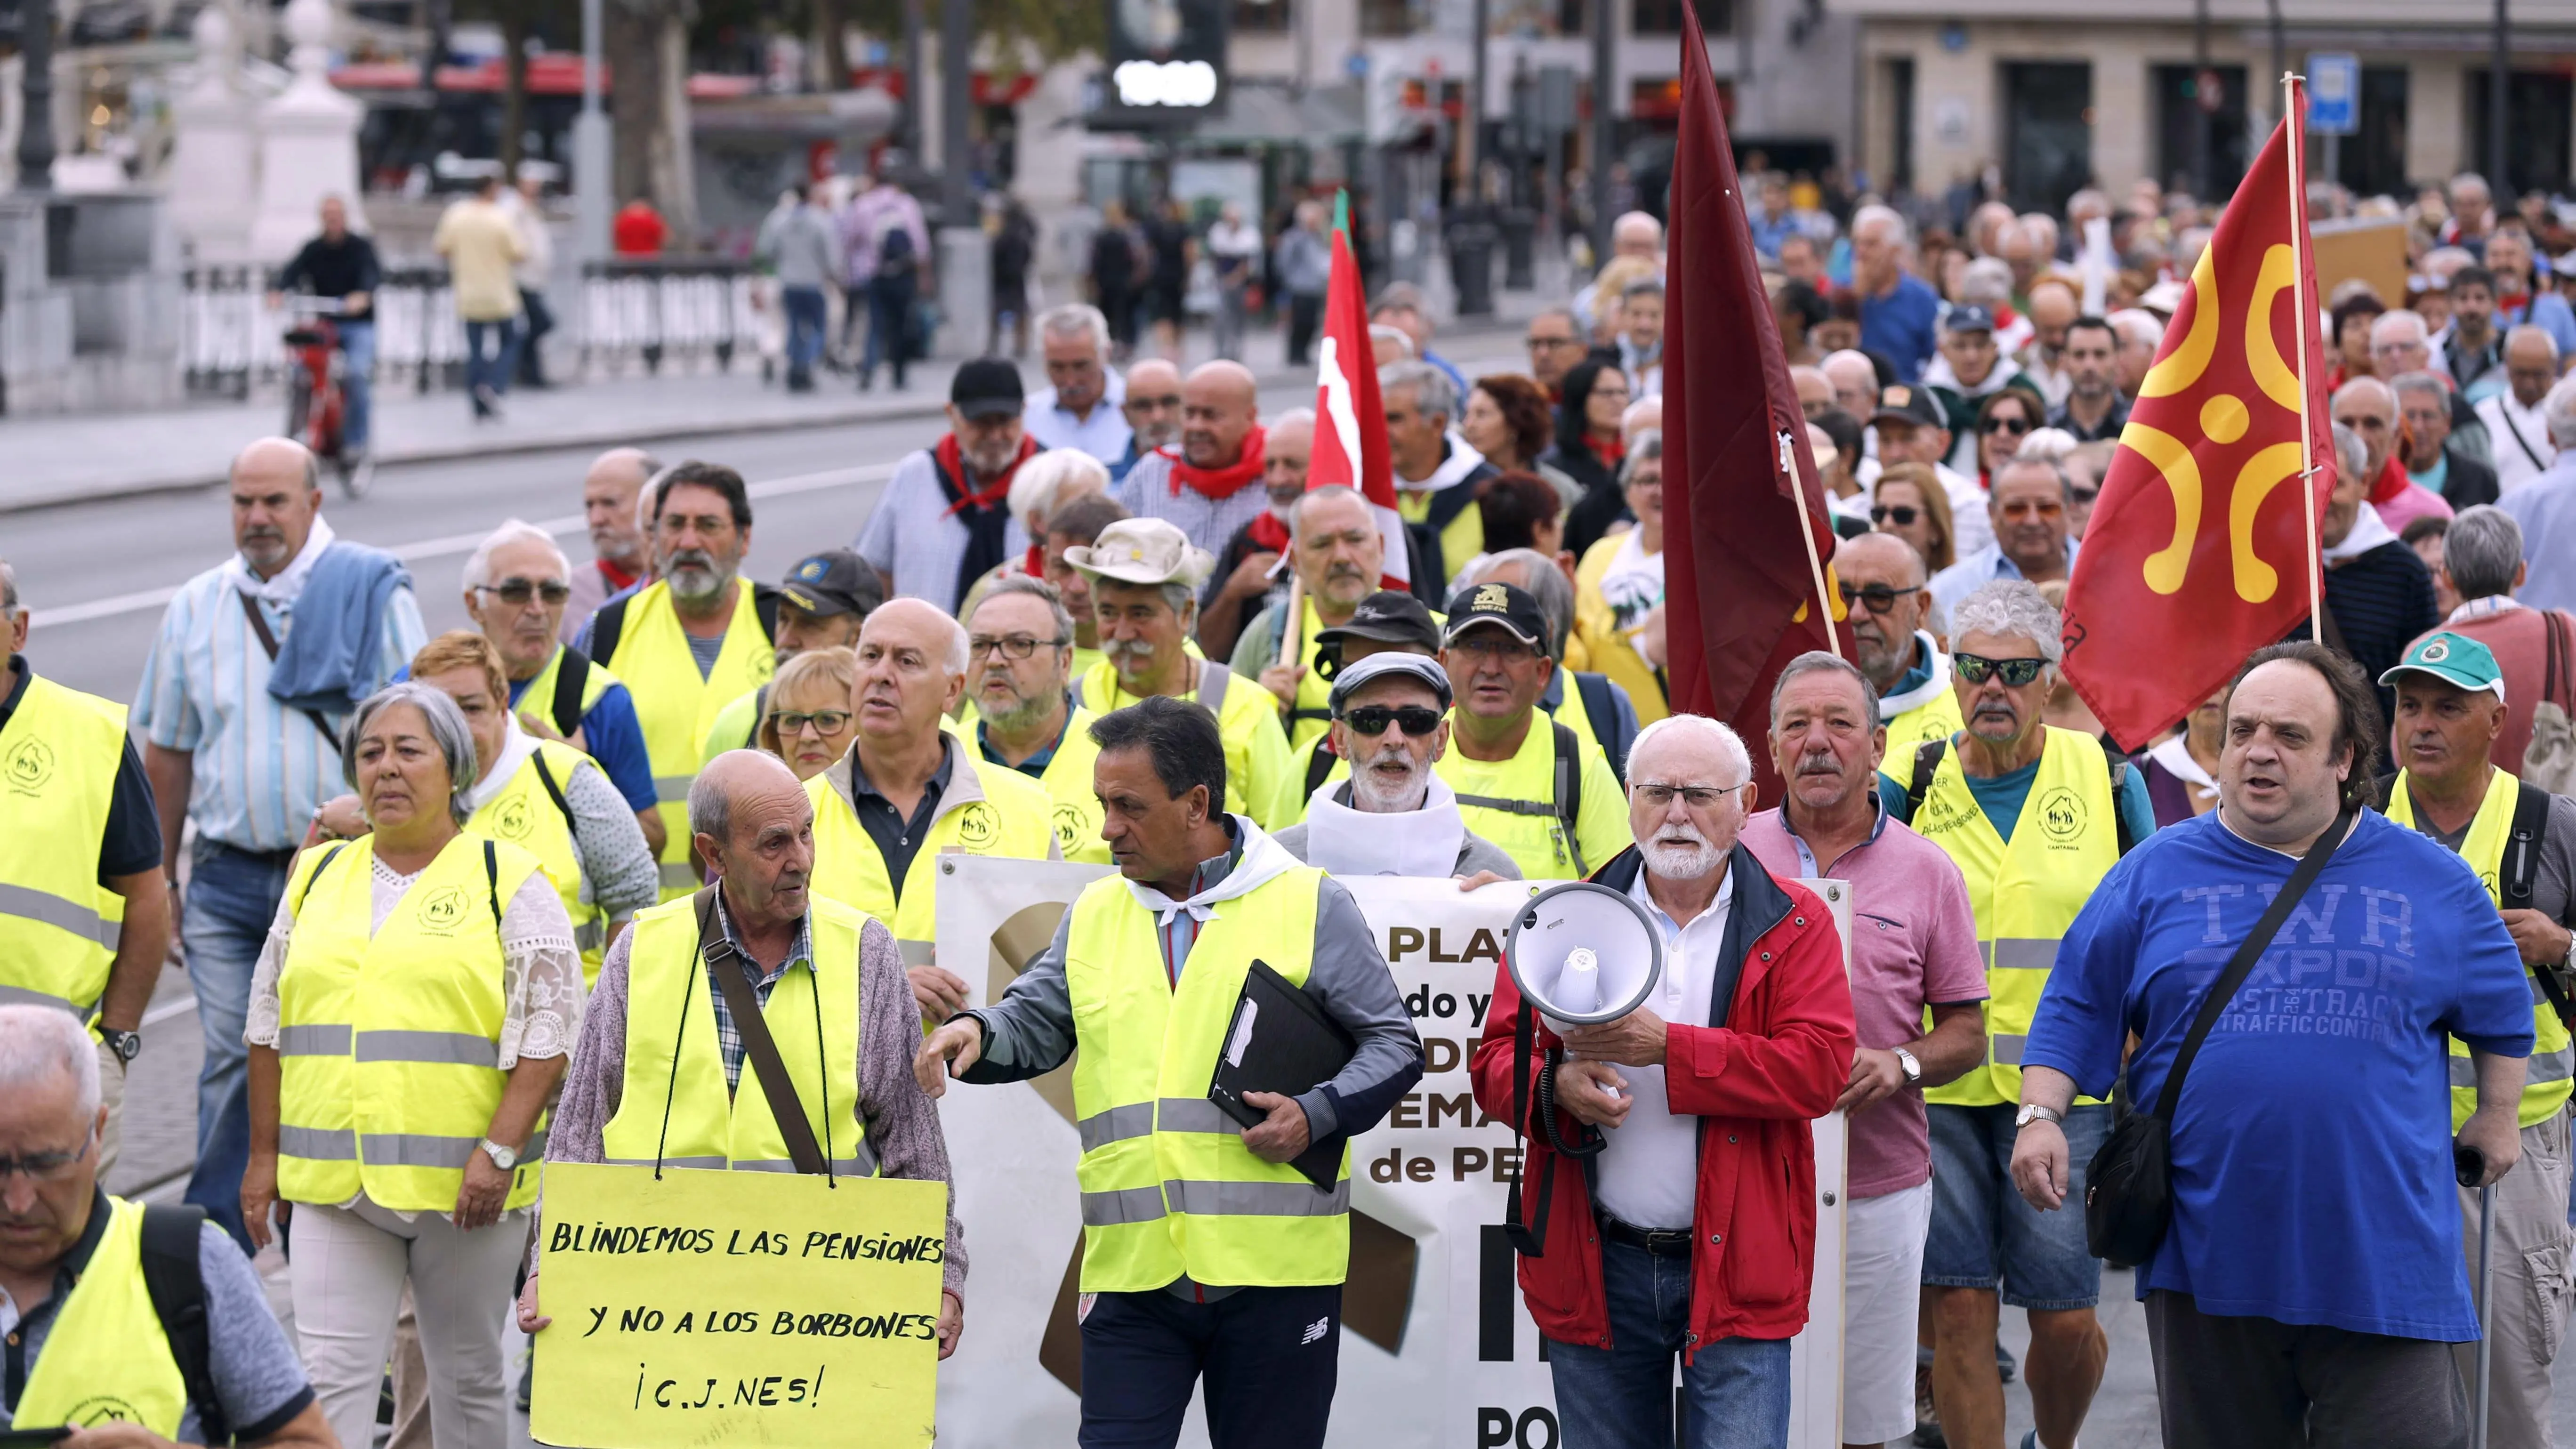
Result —
[{"label": "light-blue striped shirt of bald man at left", "polygon": [[[314,518],[296,562],[281,583],[330,544],[330,523]],[[245,585],[258,575],[240,554],[191,578],[162,614],[134,691],[134,722],[144,740],[196,755],[188,817],[198,835],[240,851],[289,851],[325,799],[348,792],[340,753],[312,719],[268,694],[268,650],[250,629]],[[276,593],[276,590],[273,590]],[[294,629],[294,598],[260,601],[278,642]],[[428,632],[412,590],[397,588],[384,608],[368,691],[412,660]],[[332,727],[340,722],[332,719]]]}]

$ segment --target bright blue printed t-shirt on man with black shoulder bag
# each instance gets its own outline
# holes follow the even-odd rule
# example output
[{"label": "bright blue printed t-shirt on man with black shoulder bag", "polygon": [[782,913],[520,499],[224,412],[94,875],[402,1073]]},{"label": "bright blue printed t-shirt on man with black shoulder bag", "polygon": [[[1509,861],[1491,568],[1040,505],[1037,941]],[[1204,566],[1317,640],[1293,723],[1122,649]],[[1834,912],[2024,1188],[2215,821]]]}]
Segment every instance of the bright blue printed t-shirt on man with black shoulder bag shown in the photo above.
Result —
[{"label": "bright blue printed t-shirt on man with black shoulder bag", "polygon": [[[2130,851],[2058,944],[2022,1065],[2107,1096],[2136,1031],[2128,1080],[2154,1104],[2210,980],[2295,864],[2215,812]],[[2460,856],[2365,812],[2192,1062],[2174,1225],[2138,1297],[2473,1341],[2445,1031],[2530,1055],[2522,954]]]}]

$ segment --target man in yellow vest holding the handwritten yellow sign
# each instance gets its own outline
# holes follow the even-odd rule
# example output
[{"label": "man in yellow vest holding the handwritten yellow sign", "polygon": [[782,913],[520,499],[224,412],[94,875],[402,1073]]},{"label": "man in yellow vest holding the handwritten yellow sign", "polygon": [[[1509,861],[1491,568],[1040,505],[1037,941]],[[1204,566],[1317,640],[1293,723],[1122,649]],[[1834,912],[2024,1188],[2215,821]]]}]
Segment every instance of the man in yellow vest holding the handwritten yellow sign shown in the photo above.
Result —
[{"label": "man in yellow vest holding the handwritten yellow sign", "polygon": [[[711,884],[639,913],[608,946],[546,1160],[948,1183],[938,1106],[912,1080],[922,1021],[902,949],[886,923],[811,895],[814,802],[796,773],[778,755],[726,750],[698,771],[688,828]],[[739,982],[716,975],[726,969]],[[757,1062],[744,1060],[732,985],[757,1006],[801,1122],[781,1127]],[[523,1333],[551,1323],[541,1269],[531,1253]],[[940,1359],[963,1333],[963,1294],[966,1232],[951,1194]]]}]

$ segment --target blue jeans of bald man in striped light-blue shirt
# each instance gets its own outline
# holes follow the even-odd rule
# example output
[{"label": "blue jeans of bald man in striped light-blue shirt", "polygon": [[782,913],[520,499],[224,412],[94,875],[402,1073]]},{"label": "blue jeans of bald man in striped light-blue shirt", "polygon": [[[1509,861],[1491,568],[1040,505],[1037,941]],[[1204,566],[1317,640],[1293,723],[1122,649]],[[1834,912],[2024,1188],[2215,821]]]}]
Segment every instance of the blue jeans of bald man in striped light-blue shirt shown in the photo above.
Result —
[{"label": "blue jeans of bald man in striped light-blue shirt", "polygon": [[286,895],[286,853],[255,856],[219,841],[198,841],[188,874],[188,902],[180,913],[180,941],[188,946],[188,985],[196,987],[196,1021],[206,1034],[206,1065],[196,1075],[196,1171],[188,1196],[216,1227],[232,1232],[242,1250],[242,1168],[250,1165],[250,1047],[242,1044],[242,1018],[250,1013],[250,967],[260,962],[268,923]]}]

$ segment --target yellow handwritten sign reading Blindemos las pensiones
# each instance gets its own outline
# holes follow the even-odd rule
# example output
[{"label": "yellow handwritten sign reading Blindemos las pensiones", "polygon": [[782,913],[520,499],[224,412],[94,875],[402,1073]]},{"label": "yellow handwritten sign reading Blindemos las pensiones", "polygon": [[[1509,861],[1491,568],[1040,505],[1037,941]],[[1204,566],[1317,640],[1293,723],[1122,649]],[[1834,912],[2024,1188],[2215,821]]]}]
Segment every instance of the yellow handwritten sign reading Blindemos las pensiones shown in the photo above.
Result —
[{"label": "yellow handwritten sign reading Blindemos las pensiones", "polygon": [[930,1444],[945,1183],[546,1163],[541,1238],[541,1444]]}]

